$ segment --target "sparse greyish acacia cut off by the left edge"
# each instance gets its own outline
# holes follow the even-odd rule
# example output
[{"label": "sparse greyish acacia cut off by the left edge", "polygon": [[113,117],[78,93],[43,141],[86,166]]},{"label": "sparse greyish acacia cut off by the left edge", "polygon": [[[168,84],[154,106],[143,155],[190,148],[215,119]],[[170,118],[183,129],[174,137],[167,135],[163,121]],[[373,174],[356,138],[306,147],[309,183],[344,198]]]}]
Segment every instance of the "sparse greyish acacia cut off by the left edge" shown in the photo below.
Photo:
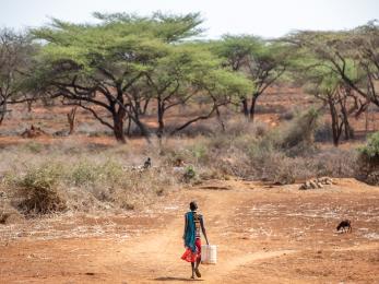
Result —
[{"label": "sparse greyish acacia cut off by the left edge", "polygon": [[34,51],[35,47],[26,35],[0,29],[0,123],[9,104],[33,99],[24,92],[24,81]]}]

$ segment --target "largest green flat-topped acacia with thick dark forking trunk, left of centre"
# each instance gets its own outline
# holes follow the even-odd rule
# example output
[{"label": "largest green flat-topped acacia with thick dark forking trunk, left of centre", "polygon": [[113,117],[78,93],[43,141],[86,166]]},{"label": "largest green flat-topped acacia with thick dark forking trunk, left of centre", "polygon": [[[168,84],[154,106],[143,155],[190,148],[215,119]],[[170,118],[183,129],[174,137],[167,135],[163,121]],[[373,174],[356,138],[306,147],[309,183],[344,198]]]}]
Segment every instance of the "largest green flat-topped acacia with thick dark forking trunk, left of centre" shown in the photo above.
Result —
[{"label": "largest green flat-topped acacia with thick dark forking trunk, left of centre", "polygon": [[133,87],[167,54],[169,44],[199,33],[199,14],[94,15],[99,24],[55,19],[50,26],[32,31],[36,39],[47,43],[33,81],[37,88],[63,97],[64,104],[91,111],[120,142],[126,142],[126,117],[147,135],[139,117],[140,94]]}]

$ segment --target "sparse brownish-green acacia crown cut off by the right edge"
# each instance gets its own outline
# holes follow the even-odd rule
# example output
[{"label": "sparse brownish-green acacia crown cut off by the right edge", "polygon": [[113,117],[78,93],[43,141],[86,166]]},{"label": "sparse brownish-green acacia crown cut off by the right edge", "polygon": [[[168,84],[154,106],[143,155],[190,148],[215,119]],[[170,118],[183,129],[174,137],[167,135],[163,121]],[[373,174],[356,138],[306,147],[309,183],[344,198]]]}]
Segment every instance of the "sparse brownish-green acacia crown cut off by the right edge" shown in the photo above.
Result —
[{"label": "sparse brownish-green acacia crown cut off by the right edge", "polygon": [[376,22],[343,32],[301,31],[283,40],[311,54],[319,64],[328,67],[346,86],[364,97],[362,110],[369,103],[379,106],[376,90],[379,80],[379,26]]}]

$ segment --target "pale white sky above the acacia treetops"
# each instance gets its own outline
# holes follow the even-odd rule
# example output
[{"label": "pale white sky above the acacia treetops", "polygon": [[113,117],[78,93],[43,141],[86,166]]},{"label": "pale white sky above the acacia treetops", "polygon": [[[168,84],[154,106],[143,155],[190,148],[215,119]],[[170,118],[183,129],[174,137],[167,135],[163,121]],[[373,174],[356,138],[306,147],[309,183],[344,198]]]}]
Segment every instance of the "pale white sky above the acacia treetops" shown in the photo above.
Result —
[{"label": "pale white sky above the acacia treetops", "polygon": [[294,29],[345,29],[379,20],[379,0],[0,0],[0,27],[36,27],[49,16],[91,22],[92,12],[201,12],[205,37],[279,37]]}]

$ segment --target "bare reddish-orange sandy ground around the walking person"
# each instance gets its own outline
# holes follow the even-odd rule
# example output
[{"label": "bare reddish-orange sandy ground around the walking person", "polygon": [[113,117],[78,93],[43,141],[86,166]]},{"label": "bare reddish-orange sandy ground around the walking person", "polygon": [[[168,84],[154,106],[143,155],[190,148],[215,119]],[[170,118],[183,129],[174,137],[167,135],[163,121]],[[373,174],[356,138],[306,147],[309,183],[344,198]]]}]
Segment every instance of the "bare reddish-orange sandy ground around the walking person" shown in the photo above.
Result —
[{"label": "bare reddish-orange sandy ground around the walking person", "polygon": [[[197,281],[379,283],[379,188],[353,179],[297,188],[208,181],[144,212],[2,225],[0,283],[188,282],[190,265],[179,258],[193,199],[218,252],[217,264],[202,265]],[[353,233],[335,233],[343,218]]]}]

